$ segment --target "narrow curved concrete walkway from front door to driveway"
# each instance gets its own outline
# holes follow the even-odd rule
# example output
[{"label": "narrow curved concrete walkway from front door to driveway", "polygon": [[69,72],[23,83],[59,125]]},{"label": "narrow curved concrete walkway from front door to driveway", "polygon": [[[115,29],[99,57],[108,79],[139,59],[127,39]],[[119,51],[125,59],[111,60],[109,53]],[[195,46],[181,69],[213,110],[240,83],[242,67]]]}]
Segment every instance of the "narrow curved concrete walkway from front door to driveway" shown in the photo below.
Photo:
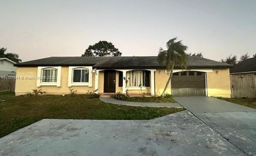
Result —
[{"label": "narrow curved concrete walkway from front door to driveway", "polygon": [[118,105],[139,106],[139,107],[182,107],[179,103],[157,103],[157,102],[129,102],[116,100],[114,98],[100,98],[101,101]]}]

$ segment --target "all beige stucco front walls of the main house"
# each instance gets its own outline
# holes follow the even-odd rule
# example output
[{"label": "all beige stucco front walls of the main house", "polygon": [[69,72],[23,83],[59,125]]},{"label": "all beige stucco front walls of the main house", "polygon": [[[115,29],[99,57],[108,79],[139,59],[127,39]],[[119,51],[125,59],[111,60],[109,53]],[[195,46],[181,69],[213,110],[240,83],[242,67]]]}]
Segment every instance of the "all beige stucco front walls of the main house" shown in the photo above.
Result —
[{"label": "all beige stucco front walls of the main house", "polygon": [[[218,72],[217,72],[218,71]],[[208,96],[215,97],[230,97],[230,78],[229,69],[213,69],[213,72],[209,72],[207,75],[207,92]],[[42,89],[48,94],[68,94],[70,92],[68,87],[68,67],[61,68],[61,86],[41,86],[36,87],[36,79],[27,79],[26,77],[36,77],[37,67],[18,67],[16,80],[15,93],[26,94],[33,89]],[[118,71],[116,72],[116,92],[122,92],[122,87],[118,86]],[[25,77],[24,79],[21,79]],[[95,74],[92,75],[92,87],[88,86],[72,86],[71,88],[77,90],[77,93],[86,93],[87,91],[94,91]],[[156,70],[155,72],[155,93],[156,96],[162,94],[165,84],[169,78],[169,74],[165,73],[165,70]],[[99,72],[98,92],[103,93],[104,83],[104,71]],[[142,92],[150,93],[150,87]],[[130,94],[141,94],[140,90],[129,90]],[[166,93],[171,93],[171,84],[169,84]]]}]

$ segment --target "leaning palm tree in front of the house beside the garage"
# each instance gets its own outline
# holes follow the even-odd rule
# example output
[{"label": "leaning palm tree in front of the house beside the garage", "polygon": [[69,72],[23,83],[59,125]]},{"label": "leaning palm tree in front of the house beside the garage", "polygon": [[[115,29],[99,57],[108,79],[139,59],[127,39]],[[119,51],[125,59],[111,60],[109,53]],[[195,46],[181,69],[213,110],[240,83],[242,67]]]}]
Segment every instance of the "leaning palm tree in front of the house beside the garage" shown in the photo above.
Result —
[{"label": "leaning palm tree in front of the house beside the garage", "polygon": [[165,85],[164,91],[161,94],[161,96],[163,96],[169,83],[171,82],[174,66],[179,65],[182,69],[187,68],[188,58],[185,51],[187,50],[188,47],[183,45],[181,43],[181,40],[176,40],[177,37],[170,39],[167,42],[167,50],[163,50],[163,48],[159,49],[158,63],[162,66],[165,66],[166,71],[170,73],[169,79]]}]

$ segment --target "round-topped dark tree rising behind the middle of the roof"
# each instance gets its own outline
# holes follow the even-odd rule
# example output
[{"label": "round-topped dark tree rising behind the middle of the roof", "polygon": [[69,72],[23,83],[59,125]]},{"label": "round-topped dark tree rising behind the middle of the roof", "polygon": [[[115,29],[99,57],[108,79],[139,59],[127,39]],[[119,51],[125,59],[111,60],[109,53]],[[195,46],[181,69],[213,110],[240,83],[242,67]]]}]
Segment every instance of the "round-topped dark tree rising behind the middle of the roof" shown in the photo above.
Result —
[{"label": "round-topped dark tree rising behind the middle of the roof", "polygon": [[99,41],[89,46],[82,56],[121,56],[122,53],[111,42]]}]

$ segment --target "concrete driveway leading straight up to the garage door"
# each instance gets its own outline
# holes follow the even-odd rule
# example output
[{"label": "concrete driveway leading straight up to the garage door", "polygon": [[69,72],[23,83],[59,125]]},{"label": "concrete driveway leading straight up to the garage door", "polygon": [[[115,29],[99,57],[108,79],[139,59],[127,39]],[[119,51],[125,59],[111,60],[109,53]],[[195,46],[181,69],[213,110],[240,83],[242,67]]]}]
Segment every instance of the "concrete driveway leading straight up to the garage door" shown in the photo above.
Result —
[{"label": "concrete driveway leading straight up to the garage door", "polygon": [[237,148],[256,154],[256,109],[211,97],[174,99]]}]

